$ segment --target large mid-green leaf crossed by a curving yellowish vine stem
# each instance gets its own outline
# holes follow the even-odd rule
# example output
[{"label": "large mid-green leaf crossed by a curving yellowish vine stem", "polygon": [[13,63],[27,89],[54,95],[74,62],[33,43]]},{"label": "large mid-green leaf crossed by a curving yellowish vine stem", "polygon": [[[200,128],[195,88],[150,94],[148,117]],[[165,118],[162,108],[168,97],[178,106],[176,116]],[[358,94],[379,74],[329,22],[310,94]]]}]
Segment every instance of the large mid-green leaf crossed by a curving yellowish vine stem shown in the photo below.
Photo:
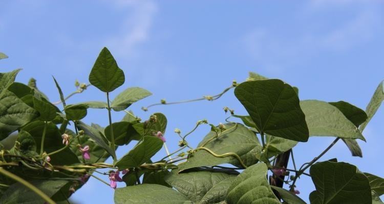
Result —
[{"label": "large mid-green leaf crossed by a curving yellowish vine stem", "polygon": [[[202,147],[209,141],[204,147],[217,155],[232,152],[237,154],[247,166],[257,163],[258,160],[255,156],[261,151],[261,145],[255,134],[239,123],[226,123],[225,126],[227,130],[219,133],[221,135],[217,139],[216,132],[211,131],[199,143],[198,147]],[[194,167],[215,166],[225,163],[241,167],[240,162],[234,156],[215,157],[208,151],[201,149],[191,155],[179,170],[183,171]]]}]

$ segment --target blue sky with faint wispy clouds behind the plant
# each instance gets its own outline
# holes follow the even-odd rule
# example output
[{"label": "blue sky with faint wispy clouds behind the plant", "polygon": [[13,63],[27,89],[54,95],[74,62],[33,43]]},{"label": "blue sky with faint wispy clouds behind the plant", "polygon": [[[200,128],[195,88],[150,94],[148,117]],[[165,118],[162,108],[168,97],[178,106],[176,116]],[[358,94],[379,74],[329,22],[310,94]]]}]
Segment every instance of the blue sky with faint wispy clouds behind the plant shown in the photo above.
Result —
[{"label": "blue sky with faint wispy clouds behind the plant", "polygon": [[[248,71],[282,79],[300,89],[301,99],[345,100],[362,109],[384,79],[384,2],[363,0],[312,1],[2,1],[0,52],[9,59],[0,71],[23,68],[16,81],[30,77],[52,101],[59,99],[51,75],[65,95],[74,81],[88,82],[88,74],[103,46],[108,47],[127,87],[153,92],[131,109],[143,119],[162,112],[168,118],[165,133],[176,149],[175,127],[184,133],[199,119],[217,124],[226,118],[222,108],[246,114],[230,91],[221,99],[193,104],[141,106],[214,95],[242,82]],[[69,103],[105,100],[92,87]],[[384,177],[379,159],[384,108],[367,126],[367,143],[359,141],[364,158],[352,158],[344,143],[337,143],[322,160],[337,157],[361,171]],[[118,121],[122,114],[113,115]],[[86,122],[108,123],[106,111],[90,111]],[[197,145],[209,131],[203,126],[190,137]],[[296,162],[308,162],[332,137],[312,137],[294,149]],[[129,147],[121,147],[122,156]],[[157,156],[164,156],[161,150]],[[107,178],[104,178],[107,180]],[[120,184],[119,187],[123,187]],[[298,181],[300,196],[308,200],[314,190],[310,179]],[[80,203],[112,203],[113,190],[91,179],[73,195]]]}]

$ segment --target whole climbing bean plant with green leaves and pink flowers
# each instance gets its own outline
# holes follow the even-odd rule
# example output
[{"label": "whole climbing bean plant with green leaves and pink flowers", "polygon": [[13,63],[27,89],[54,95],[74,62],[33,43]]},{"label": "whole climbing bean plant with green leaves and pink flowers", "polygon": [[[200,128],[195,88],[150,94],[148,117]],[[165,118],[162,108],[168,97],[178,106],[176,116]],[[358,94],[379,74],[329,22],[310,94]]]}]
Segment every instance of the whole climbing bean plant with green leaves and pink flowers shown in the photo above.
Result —
[{"label": "whole climbing bean plant with green leaves and pink flowers", "polygon": [[[345,101],[300,100],[298,88],[253,72],[245,82],[233,81],[217,95],[172,103],[163,99],[142,109],[216,100],[234,89],[248,112],[236,115],[224,107],[226,123],[204,119],[189,132],[175,129],[179,148],[169,152],[165,115],[153,113],[142,120],[128,110],[150,91],[132,87],[110,97],[125,77],[107,48],[90,71],[90,84],[76,81],[74,93],[64,96],[53,78],[60,95],[57,102],[50,101],[34,79],[28,84],[14,82],[19,71],[0,73],[0,203],[69,203],[90,176],[114,191],[111,203],[117,204],[302,204],[306,202],[297,195],[296,182],[303,176],[311,177],[315,186],[310,203],[383,203],[379,196],[384,194],[384,179],[337,159],[322,159],[336,142],[344,142],[352,156],[362,157],[356,140],[366,141],[362,132],[384,99],[382,82],[365,111]],[[105,99],[67,104],[89,86]],[[105,109],[109,125],[84,123],[90,109]],[[113,113],[120,111],[126,115],[114,120]],[[188,136],[201,125],[209,125],[210,132],[197,147],[191,146]],[[296,164],[295,145],[318,136],[335,139],[317,157]],[[116,149],[130,143],[133,148],[118,158]],[[153,160],[163,146],[167,155]],[[110,157],[113,162],[106,163]],[[289,162],[292,169],[287,168]],[[117,188],[118,182],[126,187]]]}]

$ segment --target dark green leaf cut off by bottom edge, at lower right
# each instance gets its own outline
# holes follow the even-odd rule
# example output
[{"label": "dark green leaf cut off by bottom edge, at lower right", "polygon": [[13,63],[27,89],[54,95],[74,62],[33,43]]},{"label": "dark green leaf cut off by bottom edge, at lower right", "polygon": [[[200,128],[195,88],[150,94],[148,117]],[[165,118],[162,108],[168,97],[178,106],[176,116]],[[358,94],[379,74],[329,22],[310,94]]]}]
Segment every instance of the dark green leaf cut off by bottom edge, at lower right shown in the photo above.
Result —
[{"label": "dark green leaf cut off by bottom edge, at lower right", "polygon": [[372,203],[367,177],[356,166],[344,162],[320,162],[309,170],[316,190],[309,195],[313,204]]}]

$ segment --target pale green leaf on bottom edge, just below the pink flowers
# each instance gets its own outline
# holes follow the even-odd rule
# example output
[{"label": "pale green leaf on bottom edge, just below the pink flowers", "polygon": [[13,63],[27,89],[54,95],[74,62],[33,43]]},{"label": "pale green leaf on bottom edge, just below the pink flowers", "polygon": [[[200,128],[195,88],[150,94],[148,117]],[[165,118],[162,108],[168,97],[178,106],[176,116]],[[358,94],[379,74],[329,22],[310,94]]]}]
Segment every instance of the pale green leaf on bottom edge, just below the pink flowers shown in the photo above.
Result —
[{"label": "pale green leaf on bottom edge, just below the pink flowers", "polygon": [[117,188],[115,204],[191,204],[183,194],[157,184]]}]

